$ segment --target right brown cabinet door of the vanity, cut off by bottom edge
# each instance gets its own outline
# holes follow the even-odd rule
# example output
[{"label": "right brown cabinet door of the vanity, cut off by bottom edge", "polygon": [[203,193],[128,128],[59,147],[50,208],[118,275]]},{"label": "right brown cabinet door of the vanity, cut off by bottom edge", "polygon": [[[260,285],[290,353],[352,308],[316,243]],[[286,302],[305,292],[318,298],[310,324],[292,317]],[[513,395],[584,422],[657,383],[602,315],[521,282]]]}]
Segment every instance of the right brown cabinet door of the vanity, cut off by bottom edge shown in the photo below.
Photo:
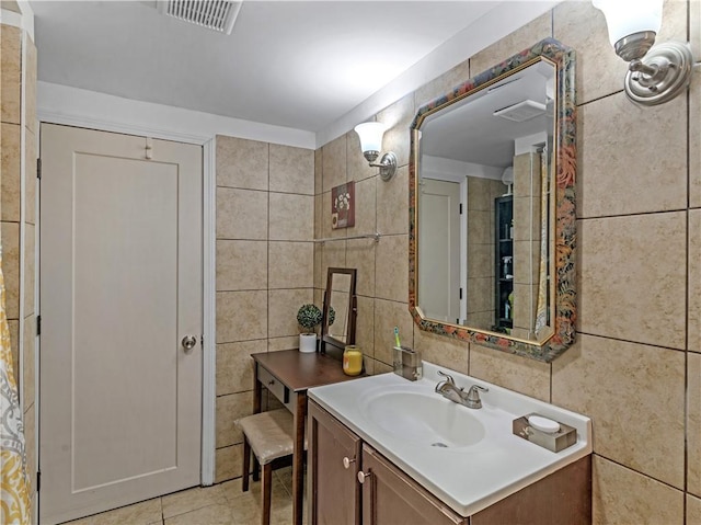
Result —
[{"label": "right brown cabinet door of the vanity, cut off by bottom edge", "polygon": [[367,444],[363,472],[363,525],[469,523]]}]

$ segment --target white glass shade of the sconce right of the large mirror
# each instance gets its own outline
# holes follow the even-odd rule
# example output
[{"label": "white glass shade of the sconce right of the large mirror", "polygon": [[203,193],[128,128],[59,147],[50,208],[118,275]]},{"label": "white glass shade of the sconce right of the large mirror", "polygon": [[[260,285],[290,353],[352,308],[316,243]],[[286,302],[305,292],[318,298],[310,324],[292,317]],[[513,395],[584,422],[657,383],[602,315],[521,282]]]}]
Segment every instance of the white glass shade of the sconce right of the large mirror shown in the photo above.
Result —
[{"label": "white glass shade of the sconce right of the large mirror", "polygon": [[591,3],[604,11],[612,46],[635,33],[659,33],[663,0],[593,0]]}]

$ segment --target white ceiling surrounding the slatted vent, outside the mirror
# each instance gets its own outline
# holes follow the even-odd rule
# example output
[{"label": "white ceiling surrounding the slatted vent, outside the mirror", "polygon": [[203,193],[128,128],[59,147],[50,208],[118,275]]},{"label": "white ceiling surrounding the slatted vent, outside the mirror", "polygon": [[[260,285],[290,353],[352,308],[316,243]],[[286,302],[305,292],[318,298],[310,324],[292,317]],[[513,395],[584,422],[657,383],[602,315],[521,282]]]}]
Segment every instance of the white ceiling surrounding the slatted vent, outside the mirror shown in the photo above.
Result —
[{"label": "white ceiling surrounding the slatted vent, outside the mirror", "polygon": [[317,133],[501,1],[244,1],[231,35],[154,1],[32,1],[41,81]]}]

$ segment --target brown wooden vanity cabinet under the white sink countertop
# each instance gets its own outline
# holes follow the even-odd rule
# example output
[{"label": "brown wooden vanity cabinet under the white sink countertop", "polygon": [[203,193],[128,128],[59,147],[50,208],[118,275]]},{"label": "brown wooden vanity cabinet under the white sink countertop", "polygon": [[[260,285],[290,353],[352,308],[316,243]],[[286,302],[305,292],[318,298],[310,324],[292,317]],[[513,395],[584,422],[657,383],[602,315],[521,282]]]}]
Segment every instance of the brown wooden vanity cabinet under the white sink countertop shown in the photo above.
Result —
[{"label": "brown wooden vanity cabinet under the white sink countertop", "polygon": [[466,517],[313,401],[308,416],[312,525],[591,524],[591,456]]}]

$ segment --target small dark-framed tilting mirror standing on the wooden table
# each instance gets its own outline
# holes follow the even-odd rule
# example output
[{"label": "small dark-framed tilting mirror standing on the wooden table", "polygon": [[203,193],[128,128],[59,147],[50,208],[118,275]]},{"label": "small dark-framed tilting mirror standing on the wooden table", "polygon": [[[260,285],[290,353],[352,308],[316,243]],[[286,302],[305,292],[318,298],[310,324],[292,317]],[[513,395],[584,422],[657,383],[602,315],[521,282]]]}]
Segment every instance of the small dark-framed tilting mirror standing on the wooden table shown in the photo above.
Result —
[{"label": "small dark-framed tilting mirror standing on the wooden table", "polygon": [[[343,349],[347,344],[355,344],[357,315],[356,273],[356,269],[329,269],[321,321],[322,352],[325,352],[326,344],[331,344],[336,349]],[[331,316],[332,308],[333,316]]]}]

